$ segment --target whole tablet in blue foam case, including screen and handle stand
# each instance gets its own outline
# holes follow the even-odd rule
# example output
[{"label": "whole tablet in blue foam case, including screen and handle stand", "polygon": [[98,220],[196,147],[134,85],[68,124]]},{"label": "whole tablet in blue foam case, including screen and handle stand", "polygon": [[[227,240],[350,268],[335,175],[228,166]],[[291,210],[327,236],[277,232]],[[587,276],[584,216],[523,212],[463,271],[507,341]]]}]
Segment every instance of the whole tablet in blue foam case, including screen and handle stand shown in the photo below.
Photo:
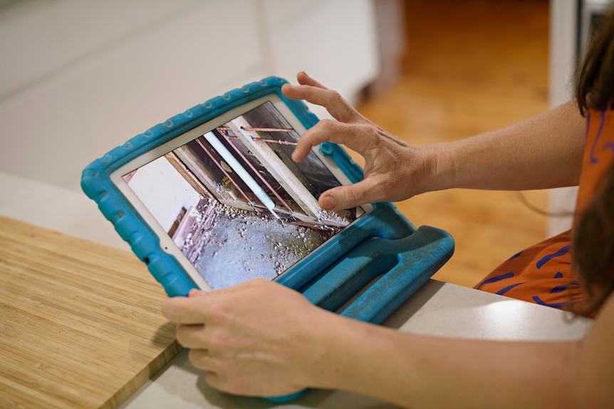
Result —
[{"label": "whole tablet in blue foam case, including screen and handle stand", "polygon": [[323,211],[321,193],[363,170],[330,142],[291,159],[318,118],[283,96],[284,83],[265,78],[147,129],[86,166],[81,186],[170,296],[265,277],[380,324],[454,240],[415,228],[392,203]]}]

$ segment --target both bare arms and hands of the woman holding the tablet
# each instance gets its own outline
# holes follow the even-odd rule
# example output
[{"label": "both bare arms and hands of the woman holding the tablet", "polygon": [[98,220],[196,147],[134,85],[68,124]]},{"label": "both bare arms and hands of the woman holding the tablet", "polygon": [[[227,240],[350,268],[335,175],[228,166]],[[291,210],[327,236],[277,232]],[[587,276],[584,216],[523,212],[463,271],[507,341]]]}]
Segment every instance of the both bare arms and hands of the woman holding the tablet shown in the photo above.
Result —
[{"label": "both bare arms and hands of the woman holding the tablet", "polygon": [[[395,201],[453,187],[578,182],[584,123],[575,102],[463,141],[412,147],[304,73],[298,83],[284,85],[284,94],[325,106],[338,122],[320,122],[303,134],[293,159],[303,159],[325,140],[365,156],[364,181],[323,193],[323,207]],[[168,298],[162,312],[177,323],[177,339],[190,349],[194,366],[207,371],[207,383],[238,395],[325,388],[407,408],[614,405],[612,295],[578,341],[484,341],[395,331],[327,312],[267,280]]]}]

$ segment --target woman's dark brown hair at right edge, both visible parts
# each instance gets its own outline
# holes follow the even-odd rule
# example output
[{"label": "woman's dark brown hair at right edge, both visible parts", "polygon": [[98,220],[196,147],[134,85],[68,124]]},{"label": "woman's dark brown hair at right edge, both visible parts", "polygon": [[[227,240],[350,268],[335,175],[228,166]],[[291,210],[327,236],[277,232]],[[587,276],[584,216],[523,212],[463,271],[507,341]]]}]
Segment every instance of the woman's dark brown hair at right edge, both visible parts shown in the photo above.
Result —
[{"label": "woman's dark brown hair at right edge, both visible parts", "polygon": [[[614,8],[604,14],[576,75],[576,100],[583,116],[614,102]],[[589,297],[573,310],[591,315],[614,289],[614,162],[573,228],[573,263]]]}]

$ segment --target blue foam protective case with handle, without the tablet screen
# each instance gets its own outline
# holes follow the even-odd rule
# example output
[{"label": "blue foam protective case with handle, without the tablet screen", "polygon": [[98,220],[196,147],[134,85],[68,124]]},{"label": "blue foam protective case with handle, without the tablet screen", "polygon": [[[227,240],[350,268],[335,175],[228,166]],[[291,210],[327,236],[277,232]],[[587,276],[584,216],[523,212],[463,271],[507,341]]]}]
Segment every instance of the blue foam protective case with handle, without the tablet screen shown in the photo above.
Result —
[{"label": "blue foam protective case with handle, without the tablet screen", "polygon": [[[160,249],[159,238],[113,184],[110,174],[189,129],[271,93],[279,95],[306,129],[312,127],[318,118],[304,102],[283,96],[284,83],[286,80],[269,77],[214,97],[136,135],[83,170],[83,191],[98,203],[103,215],[170,296],[187,295],[196,286],[175,257]],[[343,147],[325,142],[319,150],[330,156],[350,181],[363,178],[363,170]],[[278,281],[319,307],[374,324],[383,322],[447,262],[454,252],[454,240],[444,230],[415,228],[392,203],[373,206],[371,213],[333,236]]]}]

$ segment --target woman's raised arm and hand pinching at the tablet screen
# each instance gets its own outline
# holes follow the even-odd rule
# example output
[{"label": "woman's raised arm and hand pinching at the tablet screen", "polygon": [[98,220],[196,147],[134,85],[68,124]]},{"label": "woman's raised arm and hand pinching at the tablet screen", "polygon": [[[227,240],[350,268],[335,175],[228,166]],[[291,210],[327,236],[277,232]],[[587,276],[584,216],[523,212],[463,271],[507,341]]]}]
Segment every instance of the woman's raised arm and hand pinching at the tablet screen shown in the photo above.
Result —
[{"label": "woman's raised arm and hand pinching at the tablet screen", "polygon": [[322,194],[325,209],[400,201],[446,188],[525,190],[578,183],[585,121],[576,102],[493,132],[455,142],[415,147],[356,112],[333,90],[299,73],[301,85],[284,85],[286,97],[326,107],[324,119],[303,134],[293,154],[301,161],[324,141],[365,157],[365,179]]}]

